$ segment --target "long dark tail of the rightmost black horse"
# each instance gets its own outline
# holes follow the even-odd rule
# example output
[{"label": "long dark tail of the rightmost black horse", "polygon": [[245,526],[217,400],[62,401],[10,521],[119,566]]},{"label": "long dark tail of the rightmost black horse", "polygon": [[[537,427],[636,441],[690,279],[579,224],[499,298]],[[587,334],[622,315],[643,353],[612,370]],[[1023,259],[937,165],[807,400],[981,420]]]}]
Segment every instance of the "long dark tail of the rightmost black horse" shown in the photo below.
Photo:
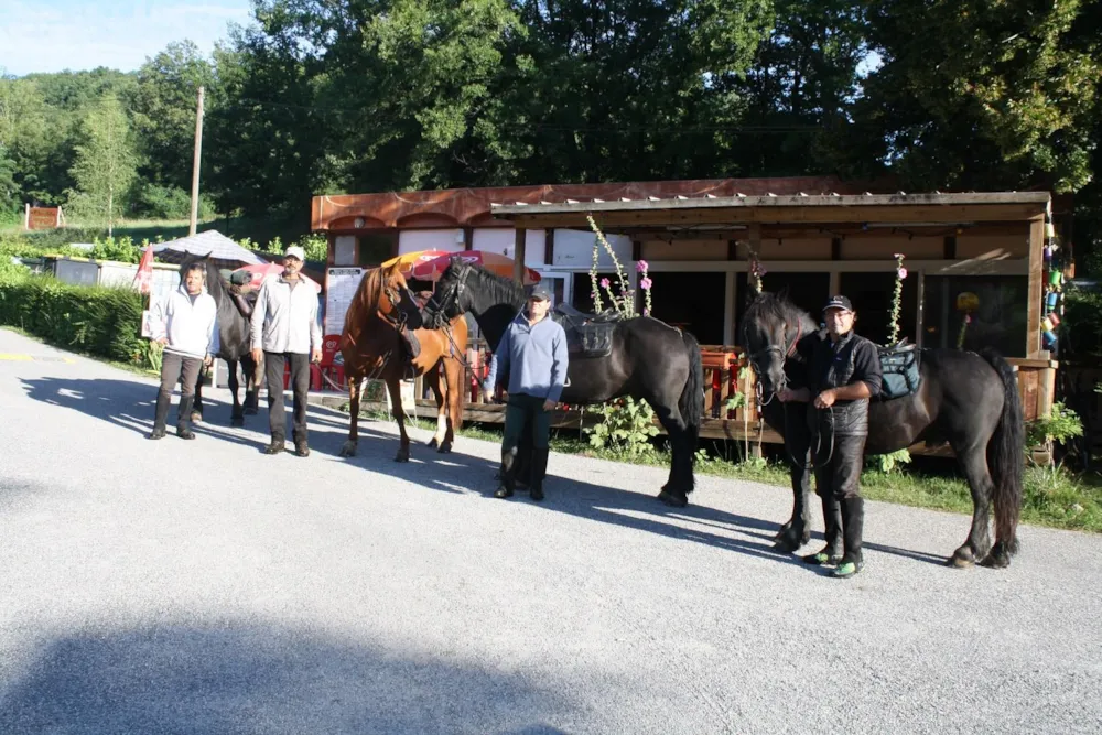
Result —
[{"label": "long dark tail of the rightmost black horse", "polygon": [[995,543],[1006,554],[1018,550],[1018,517],[1022,514],[1022,479],[1025,473],[1025,422],[1014,369],[1001,355],[984,349],[982,357],[1003,381],[1003,412],[987,444],[987,467],[995,485]]}]

